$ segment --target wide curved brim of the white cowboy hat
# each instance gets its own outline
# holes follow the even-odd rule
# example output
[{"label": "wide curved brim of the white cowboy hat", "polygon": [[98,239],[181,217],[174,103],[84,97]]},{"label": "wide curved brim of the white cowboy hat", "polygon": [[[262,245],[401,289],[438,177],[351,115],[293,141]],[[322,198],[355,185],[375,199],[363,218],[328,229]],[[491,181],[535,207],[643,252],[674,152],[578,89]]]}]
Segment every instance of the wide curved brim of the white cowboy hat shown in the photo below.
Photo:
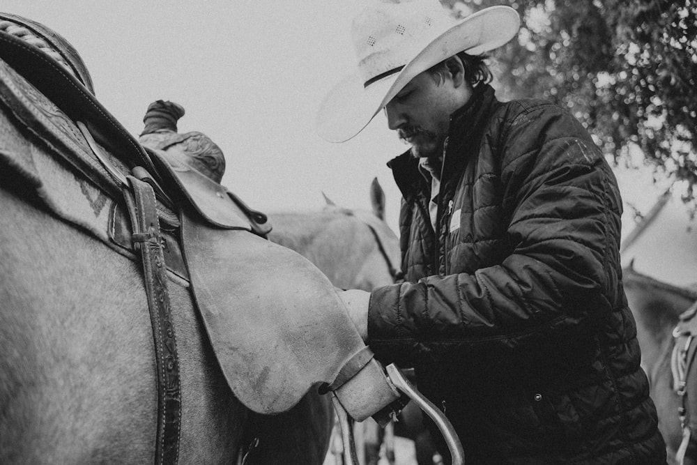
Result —
[{"label": "wide curved brim of the white cowboy hat", "polygon": [[431,40],[399,73],[367,87],[358,73],[345,77],[321,102],[315,121],[317,133],[328,142],[346,142],[358,135],[415,76],[459,52],[480,55],[505,45],[519,27],[520,17],[513,8],[484,8]]}]

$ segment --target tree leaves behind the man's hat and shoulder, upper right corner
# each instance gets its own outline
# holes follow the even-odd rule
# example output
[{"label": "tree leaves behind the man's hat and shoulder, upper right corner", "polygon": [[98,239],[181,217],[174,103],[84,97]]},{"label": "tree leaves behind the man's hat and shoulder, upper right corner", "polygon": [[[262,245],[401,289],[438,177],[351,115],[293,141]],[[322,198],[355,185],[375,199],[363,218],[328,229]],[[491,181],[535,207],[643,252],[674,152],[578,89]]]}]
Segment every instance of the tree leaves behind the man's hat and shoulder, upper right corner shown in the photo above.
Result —
[{"label": "tree leaves behind the man's hat and shoulder, upper right corner", "polygon": [[636,144],[697,183],[694,0],[443,0],[459,16],[502,3],[522,26],[492,54],[500,96],[552,100],[615,160]]}]

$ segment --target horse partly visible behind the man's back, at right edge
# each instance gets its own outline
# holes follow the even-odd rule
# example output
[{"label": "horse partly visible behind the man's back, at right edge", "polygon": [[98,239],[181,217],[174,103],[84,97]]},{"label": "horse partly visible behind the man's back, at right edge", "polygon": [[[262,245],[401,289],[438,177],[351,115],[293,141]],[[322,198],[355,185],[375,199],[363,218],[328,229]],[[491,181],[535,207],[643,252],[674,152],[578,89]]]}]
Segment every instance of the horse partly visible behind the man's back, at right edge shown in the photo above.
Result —
[{"label": "horse partly visible behind the man's back, at right edge", "polygon": [[636,338],[641,348],[641,366],[650,382],[650,395],[656,404],[659,429],[666,441],[668,462],[682,441],[678,411],[680,396],[673,389],[671,353],[673,328],[680,314],[697,300],[697,289],[673,286],[638,273],[629,264],[622,271],[629,308],[636,321]]}]

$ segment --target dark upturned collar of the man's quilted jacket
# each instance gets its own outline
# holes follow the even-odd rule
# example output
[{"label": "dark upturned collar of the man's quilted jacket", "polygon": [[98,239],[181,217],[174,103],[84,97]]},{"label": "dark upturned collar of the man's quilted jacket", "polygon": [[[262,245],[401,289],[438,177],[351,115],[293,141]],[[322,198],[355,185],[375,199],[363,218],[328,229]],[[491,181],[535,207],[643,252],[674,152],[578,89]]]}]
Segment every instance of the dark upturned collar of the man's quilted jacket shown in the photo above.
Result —
[{"label": "dark upturned collar of the man's quilted jacket", "polygon": [[[496,102],[493,88],[489,84],[480,84],[475,87],[472,98],[450,115],[447,151],[443,160],[444,177],[448,178],[449,174],[464,168],[469,158],[467,152],[479,146],[482,130],[487,124],[487,116],[491,114],[492,105]],[[395,182],[407,201],[417,192],[430,189],[418,165],[419,160],[411,155],[411,149],[388,162]]]}]

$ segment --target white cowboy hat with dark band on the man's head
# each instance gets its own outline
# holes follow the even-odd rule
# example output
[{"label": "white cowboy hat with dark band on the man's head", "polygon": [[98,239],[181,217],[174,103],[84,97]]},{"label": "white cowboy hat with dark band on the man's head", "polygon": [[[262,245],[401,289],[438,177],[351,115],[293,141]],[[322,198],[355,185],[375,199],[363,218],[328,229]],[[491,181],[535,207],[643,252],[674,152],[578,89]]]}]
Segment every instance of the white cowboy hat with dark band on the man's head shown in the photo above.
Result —
[{"label": "white cowboy hat with dark band on the man's head", "polygon": [[371,0],[353,18],[358,73],[321,102],[318,134],[345,142],[365,128],[416,75],[459,52],[479,55],[514,38],[516,10],[492,6],[454,20],[438,0]]}]

